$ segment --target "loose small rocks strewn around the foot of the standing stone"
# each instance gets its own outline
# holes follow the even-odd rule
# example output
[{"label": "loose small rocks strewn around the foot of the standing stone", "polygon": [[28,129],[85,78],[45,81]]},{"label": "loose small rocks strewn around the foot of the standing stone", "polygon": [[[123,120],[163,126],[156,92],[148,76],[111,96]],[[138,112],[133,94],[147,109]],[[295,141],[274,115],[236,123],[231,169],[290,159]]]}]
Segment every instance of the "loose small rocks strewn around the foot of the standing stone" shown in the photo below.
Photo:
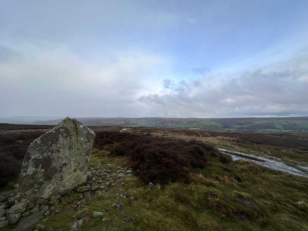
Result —
[{"label": "loose small rocks strewn around the foot of the standing stone", "polygon": [[[102,166],[103,167],[103,166]],[[87,207],[87,202],[100,196],[104,200],[125,199],[127,192],[122,192],[125,182],[132,176],[131,168],[113,167],[88,169],[87,184],[64,195],[55,194],[43,201],[30,201],[15,204],[18,185],[14,190],[0,194],[0,227],[11,225],[17,230],[27,230],[44,217],[55,216],[63,209],[79,211]],[[123,203],[114,203],[116,211],[123,208]],[[110,208],[106,208],[108,211]],[[104,216],[103,219],[109,219]],[[80,222],[79,222],[80,223]],[[40,226],[41,227],[41,226]]]}]

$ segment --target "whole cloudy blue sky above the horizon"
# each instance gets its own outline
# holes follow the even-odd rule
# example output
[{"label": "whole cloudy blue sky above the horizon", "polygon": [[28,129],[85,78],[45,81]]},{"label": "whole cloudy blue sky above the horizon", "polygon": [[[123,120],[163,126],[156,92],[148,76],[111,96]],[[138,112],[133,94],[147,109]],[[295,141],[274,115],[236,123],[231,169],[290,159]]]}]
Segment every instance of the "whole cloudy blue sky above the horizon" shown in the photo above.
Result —
[{"label": "whole cloudy blue sky above the horizon", "polygon": [[0,1],[0,117],[308,116],[308,1]]}]

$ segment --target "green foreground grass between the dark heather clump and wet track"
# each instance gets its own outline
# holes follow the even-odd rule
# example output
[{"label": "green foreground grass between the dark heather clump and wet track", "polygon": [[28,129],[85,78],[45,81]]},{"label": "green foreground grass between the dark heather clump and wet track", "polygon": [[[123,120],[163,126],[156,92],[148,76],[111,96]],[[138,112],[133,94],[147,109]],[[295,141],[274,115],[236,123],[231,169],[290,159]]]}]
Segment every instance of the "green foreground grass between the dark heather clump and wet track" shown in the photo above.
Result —
[{"label": "green foreground grass between the dark heather clump and wet track", "polygon": [[[114,164],[107,153],[95,156],[97,152],[94,150],[95,158],[91,157],[92,166],[97,160]],[[121,159],[115,161],[119,163]],[[148,185],[131,177],[122,190],[127,192],[126,199],[107,201],[97,196],[79,212],[79,219],[89,217],[81,230],[102,230],[105,226],[107,230],[157,231],[308,230],[308,179],[241,160],[228,166],[212,164],[194,170],[200,176],[195,182],[173,183],[161,190],[155,185],[146,191]],[[112,206],[119,202],[124,203],[125,216]],[[110,219],[103,222],[102,217],[91,215],[94,211],[102,211]],[[66,230],[72,215],[50,218],[45,230],[56,225],[61,225],[59,230]],[[133,218],[132,223],[124,222]]]}]

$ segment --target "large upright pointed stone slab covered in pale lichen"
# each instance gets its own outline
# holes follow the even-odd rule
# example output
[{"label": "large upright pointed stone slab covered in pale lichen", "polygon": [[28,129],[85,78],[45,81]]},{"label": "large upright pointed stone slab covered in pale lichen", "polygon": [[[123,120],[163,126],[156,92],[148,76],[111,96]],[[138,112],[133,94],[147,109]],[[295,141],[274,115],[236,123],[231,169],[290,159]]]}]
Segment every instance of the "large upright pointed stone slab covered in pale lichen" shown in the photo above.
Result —
[{"label": "large upright pointed stone slab covered in pale lichen", "polygon": [[63,194],[87,180],[95,133],[66,117],[28,147],[19,176],[18,201]]}]

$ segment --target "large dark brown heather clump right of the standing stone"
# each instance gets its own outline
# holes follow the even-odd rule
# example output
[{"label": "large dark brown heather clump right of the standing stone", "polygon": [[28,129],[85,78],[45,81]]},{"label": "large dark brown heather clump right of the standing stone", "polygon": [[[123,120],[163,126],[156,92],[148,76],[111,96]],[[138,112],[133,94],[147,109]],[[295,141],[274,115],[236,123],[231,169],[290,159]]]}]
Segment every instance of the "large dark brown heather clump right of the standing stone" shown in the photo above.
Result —
[{"label": "large dark brown heather clump right of the standing stone", "polygon": [[112,157],[127,157],[128,167],[140,180],[161,184],[189,182],[193,169],[206,168],[211,161],[232,161],[202,141],[156,137],[150,133],[99,132],[94,147],[109,151]]}]

